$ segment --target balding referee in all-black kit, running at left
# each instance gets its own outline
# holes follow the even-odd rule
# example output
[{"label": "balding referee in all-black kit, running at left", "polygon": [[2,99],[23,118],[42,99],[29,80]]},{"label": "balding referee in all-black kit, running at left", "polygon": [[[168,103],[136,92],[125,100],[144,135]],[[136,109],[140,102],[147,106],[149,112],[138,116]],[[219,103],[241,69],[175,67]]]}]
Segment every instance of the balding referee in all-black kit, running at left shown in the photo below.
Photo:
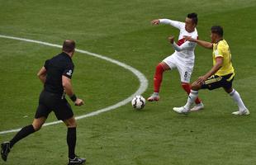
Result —
[{"label": "balding referee in all-black kit, running at left", "polygon": [[83,164],[85,158],[78,158],[75,155],[76,145],[76,120],[73,117],[73,111],[69,102],[65,99],[67,94],[76,106],[82,106],[83,100],[79,99],[73,93],[71,78],[73,74],[73,61],[75,42],[73,40],[64,40],[62,53],[52,59],[45,61],[45,65],[37,73],[40,81],[44,83],[44,90],[40,93],[39,106],[36,110],[35,119],[32,125],[23,127],[11,141],[1,144],[1,155],[4,161],[7,161],[8,153],[19,140],[25,138],[40,130],[45,123],[51,111],[55,112],[58,120],[63,120],[68,127],[67,144],[69,146],[69,165]]}]

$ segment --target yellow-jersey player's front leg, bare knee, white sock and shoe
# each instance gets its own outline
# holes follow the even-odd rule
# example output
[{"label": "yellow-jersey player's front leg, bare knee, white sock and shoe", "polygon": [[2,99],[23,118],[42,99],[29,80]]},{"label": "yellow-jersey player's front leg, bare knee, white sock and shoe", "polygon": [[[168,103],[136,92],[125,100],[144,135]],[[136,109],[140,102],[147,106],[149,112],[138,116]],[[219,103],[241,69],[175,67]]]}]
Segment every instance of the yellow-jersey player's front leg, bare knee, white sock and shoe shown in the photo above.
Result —
[{"label": "yellow-jersey player's front leg, bare knee, white sock and shoe", "polygon": [[187,97],[187,103],[185,106],[181,106],[181,107],[174,107],[173,111],[176,111],[178,113],[183,113],[186,114],[191,110],[191,107],[193,105],[193,103],[196,101],[197,97],[198,97],[198,91],[201,89],[201,84],[196,82],[192,83],[192,90],[189,93],[188,97]]}]

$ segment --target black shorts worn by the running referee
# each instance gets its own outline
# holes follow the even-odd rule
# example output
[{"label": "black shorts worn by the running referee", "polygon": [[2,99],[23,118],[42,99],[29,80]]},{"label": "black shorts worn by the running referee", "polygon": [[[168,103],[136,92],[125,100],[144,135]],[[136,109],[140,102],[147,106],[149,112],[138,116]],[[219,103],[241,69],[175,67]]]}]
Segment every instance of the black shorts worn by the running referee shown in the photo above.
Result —
[{"label": "black shorts worn by the running referee", "polygon": [[36,110],[35,118],[47,118],[51,111],[55,112],[58,120],[68,120],[73,117],[73,111],[69,102],[61,98],[59,94],[42,91],[39,98],[39,106]]}]

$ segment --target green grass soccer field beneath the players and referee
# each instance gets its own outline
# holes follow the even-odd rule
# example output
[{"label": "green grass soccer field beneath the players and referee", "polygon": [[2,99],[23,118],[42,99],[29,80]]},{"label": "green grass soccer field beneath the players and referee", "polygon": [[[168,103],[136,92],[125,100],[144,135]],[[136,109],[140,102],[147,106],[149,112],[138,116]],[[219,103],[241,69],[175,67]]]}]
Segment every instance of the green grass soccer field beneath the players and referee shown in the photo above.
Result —
[{"label": "green grass soccer field beneath the players and referee", "polygon": [[[218,89],[200,91],[205,109],[178,115],[187,93],[178,71],[164,73],[161,100],[147,102],[143,111],[129,104],[78,120],[76,153],[91,165],[254,165],[256,162],[256,1],[167,0],[0,0],[0,35],[62,45],[73,39],[79,50],[116,59],[138,69],[149,80],[142,94],[153,92],[155,65],[173,53],[171,26],[151,26],[157,18],[184,21],[197,12],[201,40],[210,40],[212,25],[224,27],[235,67],[234,87],[251,115],[234,116],[234,101]],[[0,132],[31,124],[42,84],[36,73],[60,49],[0,37]],[[197,46],[192,81],[212,65],[211,50]],[[130,97],[140,81],[129,70],[106,60],[77,52],[73,58],[73,88],[85,106],[73,106],[85,115]],[[70,102],[71,103],[71,102]],[[54,113],[47,122],[55,121]],[[12,148],[7,165],[66,164],[64,124],[43,127]],[[0,142],[15,133],[0,134]]]}]

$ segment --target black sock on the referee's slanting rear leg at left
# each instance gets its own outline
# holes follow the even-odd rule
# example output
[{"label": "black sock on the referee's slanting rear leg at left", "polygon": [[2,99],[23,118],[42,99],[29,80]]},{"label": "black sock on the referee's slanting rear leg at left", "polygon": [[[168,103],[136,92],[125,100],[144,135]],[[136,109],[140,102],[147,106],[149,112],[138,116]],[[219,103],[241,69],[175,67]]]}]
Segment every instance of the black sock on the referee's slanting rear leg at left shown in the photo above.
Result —
[{"label": "black sock on the referee's slanting rear leg at left", "polygon": [[23,127],[10,141],[10,148],[13,147],[14,144],[16,144],[20,139],[25,138],[29,134],[32,134],[35,132],[35,129],[33,125],[27,125],[26,127]]}]

